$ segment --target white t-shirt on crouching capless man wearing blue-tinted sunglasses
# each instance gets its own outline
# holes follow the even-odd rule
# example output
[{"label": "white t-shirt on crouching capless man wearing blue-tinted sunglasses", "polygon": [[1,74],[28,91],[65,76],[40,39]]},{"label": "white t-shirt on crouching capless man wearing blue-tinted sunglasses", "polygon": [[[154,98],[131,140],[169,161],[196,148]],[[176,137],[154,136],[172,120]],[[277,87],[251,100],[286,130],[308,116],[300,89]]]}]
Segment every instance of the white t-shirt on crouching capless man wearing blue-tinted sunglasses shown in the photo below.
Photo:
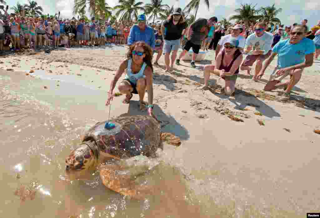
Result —
[{"label": "white t-shirt on crouching capless man wearing blue-tinted sunglasses", "polygon": [[[245,49],[248,46],[252,46],[252,50],[264,50],[263,54],[267,54],[269,50],[271,50],[271,45],[273,43],[273,35],[269,32],[264,32],[261,37],[256,36],[255,33],[252,33],[248,36],[245,42]],[[252,54],[252,51],[249,52]]]}]

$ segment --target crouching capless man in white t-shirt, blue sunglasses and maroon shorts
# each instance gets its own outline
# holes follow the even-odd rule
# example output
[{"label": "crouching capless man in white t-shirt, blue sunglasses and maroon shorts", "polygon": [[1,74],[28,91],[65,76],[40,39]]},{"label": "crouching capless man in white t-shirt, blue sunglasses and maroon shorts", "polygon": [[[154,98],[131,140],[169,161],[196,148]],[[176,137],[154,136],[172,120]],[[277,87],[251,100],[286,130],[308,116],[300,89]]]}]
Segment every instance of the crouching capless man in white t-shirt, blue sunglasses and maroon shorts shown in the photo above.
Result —
[{"label": "crouching capless man in white t-shirt, blue sunglasses and maroon shorts", "polygon": [[[255,33],[252,33],[250,36],[248,36],[244,46],[244,52],[248,53],[248,56],[243,61],[240,69],[247,70],[247,74],[250,75],[250,67],[255,61],[257,61],[254,76],[252,77],[252,80],[254,81],[257,81],[257,76],[260,73],[263,61],[266,60],[271,54],[273,35],[269,32],[266,32],[265,28],[265,23],[258,23],[254,29]],[[251,50],[253,51],[251,52]]]}]

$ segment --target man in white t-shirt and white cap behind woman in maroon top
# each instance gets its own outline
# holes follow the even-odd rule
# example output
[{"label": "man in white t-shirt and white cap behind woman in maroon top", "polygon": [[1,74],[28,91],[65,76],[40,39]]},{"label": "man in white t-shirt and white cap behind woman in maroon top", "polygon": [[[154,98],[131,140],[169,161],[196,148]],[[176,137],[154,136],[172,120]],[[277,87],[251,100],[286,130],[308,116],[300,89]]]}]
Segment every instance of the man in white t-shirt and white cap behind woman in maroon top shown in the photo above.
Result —
[{"label": "man in white t-shirt and white cap behind woman in maroon top", "polygon": [[[220,48],[222,46],[222,50],[224,49],[224,44],[230,39],[230,38],[234,38],[236,40],[239,41],[239,45],[238,45],[238,49],[240,51],[243,50],[244,48],[244,45],[245,45],[245,38],[243,36],[240,36],[240,33],[242,33],[243,31],[243,26],[240,25],[240,24],[237,24],[236,26],[234,26],[233,28],[231,28],[231,34],[229,35],[226,35],[226,36],[223,36],[221,37],[217,47],[216,47],[216,58],[217,58],[217,55],[218,53],[220,52]],[[221,50],[221,51],[222,51]]]}]

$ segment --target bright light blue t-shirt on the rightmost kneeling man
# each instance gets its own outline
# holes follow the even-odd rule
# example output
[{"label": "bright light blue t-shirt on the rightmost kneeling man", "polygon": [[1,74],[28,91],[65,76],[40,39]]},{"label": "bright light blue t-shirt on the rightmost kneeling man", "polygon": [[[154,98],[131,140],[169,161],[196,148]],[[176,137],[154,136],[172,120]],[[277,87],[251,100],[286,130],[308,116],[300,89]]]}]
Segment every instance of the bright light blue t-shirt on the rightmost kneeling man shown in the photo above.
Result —
[{"label": "bright light blue t-shirt on the rightmost kneeling man", "polygon": [[286,68],[305,62],[305,55],[316,51],[315,43],[308,38],[303,38],[297,44],[291,44],[290,39],[279,41],[272,52],[278,53],[278,68]]}]

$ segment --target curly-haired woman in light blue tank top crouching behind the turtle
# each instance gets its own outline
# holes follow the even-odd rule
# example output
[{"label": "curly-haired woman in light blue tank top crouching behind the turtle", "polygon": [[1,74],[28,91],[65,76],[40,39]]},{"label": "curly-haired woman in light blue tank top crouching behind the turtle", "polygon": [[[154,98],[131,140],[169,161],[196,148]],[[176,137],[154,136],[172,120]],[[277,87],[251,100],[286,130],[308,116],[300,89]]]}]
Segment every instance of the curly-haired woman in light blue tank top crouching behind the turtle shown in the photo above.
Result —
[{"label": "curly-haired woman in light blue tank top crouching behind the turtle", "polygon": [[152,116],[153,109],[153,67],[152,67],[152,49],[144,42],[136,42],[132,44],[127,53],[127,59],[124,60],[115,77],[111,81],[110,91],[108,92],[108,100],[106,105],[109,105],[113,99],[113,89],[117,81],[125,72],[124,80],[118,85],[120,93],[125,94],[124,104],[129,104],[132,94],[139,94],[140,110],[145,110],[146,106],[143,102],[146,89],[148,90],[148,113]]}]

